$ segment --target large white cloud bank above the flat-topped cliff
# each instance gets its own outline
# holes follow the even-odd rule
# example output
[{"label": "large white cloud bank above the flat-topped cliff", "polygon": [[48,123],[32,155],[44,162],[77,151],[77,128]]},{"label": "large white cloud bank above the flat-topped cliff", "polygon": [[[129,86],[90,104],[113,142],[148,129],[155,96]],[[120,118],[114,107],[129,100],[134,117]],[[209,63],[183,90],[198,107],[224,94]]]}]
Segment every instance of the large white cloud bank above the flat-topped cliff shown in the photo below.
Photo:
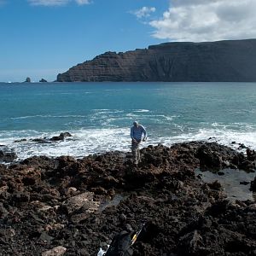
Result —
[{"label": "large white cloud bank above the flat-topped cliff", "polygon": [[256,38],[255,10],[255,0],[172,0],[149,25],[154,38],[171,41]]}]

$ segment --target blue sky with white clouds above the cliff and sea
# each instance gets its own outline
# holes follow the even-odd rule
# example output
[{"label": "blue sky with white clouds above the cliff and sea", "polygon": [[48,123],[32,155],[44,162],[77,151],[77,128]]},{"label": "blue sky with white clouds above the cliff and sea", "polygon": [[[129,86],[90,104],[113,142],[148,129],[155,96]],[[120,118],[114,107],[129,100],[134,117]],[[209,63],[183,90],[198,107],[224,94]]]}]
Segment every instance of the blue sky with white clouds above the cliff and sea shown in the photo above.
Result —
[{"label": "blue sky with white clouds above the cliff and sea", "polygon": [[54,81],[106,51],[256,38],[256,0],[0,0],[0,81]]}]

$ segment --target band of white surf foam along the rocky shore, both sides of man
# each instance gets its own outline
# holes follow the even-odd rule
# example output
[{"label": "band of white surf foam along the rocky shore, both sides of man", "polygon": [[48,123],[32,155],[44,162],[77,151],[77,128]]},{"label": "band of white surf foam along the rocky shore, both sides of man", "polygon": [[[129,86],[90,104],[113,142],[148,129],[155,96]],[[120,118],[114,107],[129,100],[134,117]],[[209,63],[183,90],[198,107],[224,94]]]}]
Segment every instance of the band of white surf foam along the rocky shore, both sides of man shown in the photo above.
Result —
[{"label": "band of white surf foam along the rocky shore, both sides of man", "polygon": [[[198,131],[180,131],[173,132],[172,135],[161,136],[158,131],[148,130],[148,141],[143,143],[143,147],[149,144],[162,143],[171,146],[173,143],[183,143],[189,141],[216,141],[218,143],[238,148],[239,143],[244,143],[247,147],[256,149],[256,131],[226,131],[223,129],[199,129]],[[74,157],[84,157],[88,154],[103,153],[107,151],[124,151],[131,148],[131,138],[129,128],[111,128],[111,129],[83,129],[79,131],[70,131],[73,137],[67,137],[65,141],[53,143],[35,143],[30,139],[53,137],[61,133],[38,132],[38,131],[6,131],[0,135],[0,144],[13,148],[20,160],[26,159],[32,155],[73,155]],[[211,139],[209,140],[209,138]],[[26,141],[14,142],[26,138]],[[233,142],[236,142],[234,144]]]}]

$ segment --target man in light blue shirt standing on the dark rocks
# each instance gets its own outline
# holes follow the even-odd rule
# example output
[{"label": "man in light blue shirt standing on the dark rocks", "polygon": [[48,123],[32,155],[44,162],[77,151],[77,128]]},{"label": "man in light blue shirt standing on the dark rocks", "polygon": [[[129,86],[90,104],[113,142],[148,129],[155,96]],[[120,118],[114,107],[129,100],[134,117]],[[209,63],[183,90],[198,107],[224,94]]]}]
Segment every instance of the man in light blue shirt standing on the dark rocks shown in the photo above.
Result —
[{"label": "man in light blue shirt standing on the dark rocks", "polygon": [[141,160],[139,144],[142,141],[142,137],[144,142],[147,138],[147,132],[143,125],[139,125],[137,121],[134,121],[133,126],[131,126],[131,153],[135,165]]}]

